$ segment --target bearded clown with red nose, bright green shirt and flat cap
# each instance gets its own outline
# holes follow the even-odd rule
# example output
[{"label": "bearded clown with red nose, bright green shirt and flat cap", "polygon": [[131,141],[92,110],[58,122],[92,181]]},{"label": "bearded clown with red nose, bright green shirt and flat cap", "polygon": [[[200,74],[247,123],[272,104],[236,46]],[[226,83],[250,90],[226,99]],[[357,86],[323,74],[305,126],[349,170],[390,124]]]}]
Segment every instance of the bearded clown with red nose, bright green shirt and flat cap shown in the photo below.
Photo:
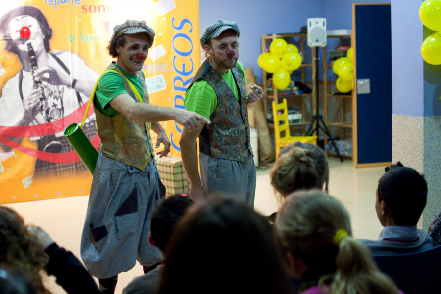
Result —
[{"label": "bearded clown with red nose, bright green shirt and flat cap", "polygon": [[254,206],[256,168],[247,106],[260,100],[263,90],[253,85],[245,93],[244,67],[238,61],[239,35],[235,22],[218,20],[205,28],[200,44],[207,58],[187,89],[184,104],[211,124],[202,124],[196,131],[184,127],[180,147],[191,198],[226,196]]}]

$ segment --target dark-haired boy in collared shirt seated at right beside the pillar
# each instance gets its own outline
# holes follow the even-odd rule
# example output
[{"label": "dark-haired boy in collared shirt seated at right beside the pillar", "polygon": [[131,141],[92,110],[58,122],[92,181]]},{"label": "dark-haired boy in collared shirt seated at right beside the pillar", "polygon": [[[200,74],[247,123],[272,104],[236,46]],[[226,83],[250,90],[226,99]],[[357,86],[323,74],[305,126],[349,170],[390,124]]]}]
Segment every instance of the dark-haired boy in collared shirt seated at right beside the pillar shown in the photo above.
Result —
[{"label": "dark-haired boy in collared shirt seated at right beside the pillar", "polygon": [[378,181],[375,210],[385,227],[378,240],[362,240],[373,255],[404,254],[433,248],[433,240],[417,223],[426,206],[427,183],[400,162],[386,168]]}]

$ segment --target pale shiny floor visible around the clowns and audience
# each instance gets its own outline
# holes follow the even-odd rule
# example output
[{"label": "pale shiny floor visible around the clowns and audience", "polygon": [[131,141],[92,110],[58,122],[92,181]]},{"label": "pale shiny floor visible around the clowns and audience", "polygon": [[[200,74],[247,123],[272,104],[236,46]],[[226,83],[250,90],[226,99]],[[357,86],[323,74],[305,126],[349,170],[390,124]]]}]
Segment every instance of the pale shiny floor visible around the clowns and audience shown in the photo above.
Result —
[{"label": "pale shiny floor visible around the clowns and audience", "polygon": [[[338,158],[329,158],[329,192],[340,199],[351,215],[353,234],[357,238],[376,239],[382,227],[375,213],[375,190],[384,167],[355,169],[349,159],[341,163]],[[270,169],[258,170],[255,209],[265,215],[277,210],[269,178]],[[27,223],[43,227],[60,245],[79,257],[80,238],[86,214],[88,196],[60,198],[8,204],[20,213]],[[142,274],[142,267],[119,275],[116,294],[122,293],[134,277]],[[53,294],[64,294],[60,287],[49,281]]]}]

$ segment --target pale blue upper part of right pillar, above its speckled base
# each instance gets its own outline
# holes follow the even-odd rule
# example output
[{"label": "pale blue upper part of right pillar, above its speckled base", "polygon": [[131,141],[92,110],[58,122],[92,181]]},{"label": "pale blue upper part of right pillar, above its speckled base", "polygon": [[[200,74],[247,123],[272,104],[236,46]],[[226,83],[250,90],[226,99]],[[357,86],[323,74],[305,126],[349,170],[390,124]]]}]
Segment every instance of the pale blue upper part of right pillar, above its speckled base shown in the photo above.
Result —
[{"label": "pale blue upper part of right pillar, above its speckled base", "polygon": [[[422,0],[392,0],[392,113],[441,115],[441,66],[421,57],[421,44],[433,33],[419,18]],[[423,81],[423,82],[421,82]]]}]

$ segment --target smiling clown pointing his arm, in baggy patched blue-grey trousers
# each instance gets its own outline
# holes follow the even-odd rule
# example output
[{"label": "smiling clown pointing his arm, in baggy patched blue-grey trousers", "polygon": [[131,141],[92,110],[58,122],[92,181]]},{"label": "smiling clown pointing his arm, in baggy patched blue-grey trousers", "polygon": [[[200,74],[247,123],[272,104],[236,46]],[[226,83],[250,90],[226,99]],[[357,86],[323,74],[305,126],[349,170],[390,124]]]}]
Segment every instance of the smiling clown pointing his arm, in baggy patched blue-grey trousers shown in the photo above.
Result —
[{"label": "smiling clown pointing his arm, in baggy patched blue-grey trousers", "polygon": [[81,257],[98,278],[100,290],[113,293],[118,274],[138,260],[148,271],[161,252],[148,241],[150,216],[165,194],[154,163],[150,129],[162,143],[170,141],[158,121],[175,120],[192,131],[208,119],[194,112],[149,104],[141,71],[154,31],[145,21],[127,20],[113,29],[107,47],[116,58],[100,76],[94,94],[98,135],[101,138],[90,200],[81,238]]}]

